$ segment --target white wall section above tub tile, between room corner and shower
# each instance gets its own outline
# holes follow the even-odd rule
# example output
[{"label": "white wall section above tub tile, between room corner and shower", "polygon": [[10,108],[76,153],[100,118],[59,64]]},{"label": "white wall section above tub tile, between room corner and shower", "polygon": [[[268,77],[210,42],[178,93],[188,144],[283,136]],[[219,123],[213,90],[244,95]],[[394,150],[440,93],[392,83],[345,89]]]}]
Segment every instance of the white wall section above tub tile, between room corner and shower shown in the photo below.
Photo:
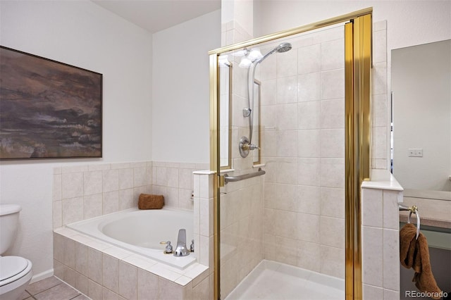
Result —
[{"label": "white wall section above tub tile, between room corner and shower", "polygon": [[152,160],[209,163],[209,56],[221,11],[153,35]]}]

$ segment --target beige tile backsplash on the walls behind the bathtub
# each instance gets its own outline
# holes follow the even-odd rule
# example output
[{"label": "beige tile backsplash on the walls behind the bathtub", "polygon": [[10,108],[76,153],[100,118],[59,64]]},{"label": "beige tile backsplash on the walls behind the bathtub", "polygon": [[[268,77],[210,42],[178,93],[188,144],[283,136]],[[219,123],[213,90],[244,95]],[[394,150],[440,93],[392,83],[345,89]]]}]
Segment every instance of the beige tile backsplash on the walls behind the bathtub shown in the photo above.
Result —
[{"label": "beige tile backsplash on the walls behind the bathtub", "polygon": [[54,168],[54,228],[137,207],[141,193],[163,194],[166,206],[192,210],[192,173],[205,168],[157,161]]}]

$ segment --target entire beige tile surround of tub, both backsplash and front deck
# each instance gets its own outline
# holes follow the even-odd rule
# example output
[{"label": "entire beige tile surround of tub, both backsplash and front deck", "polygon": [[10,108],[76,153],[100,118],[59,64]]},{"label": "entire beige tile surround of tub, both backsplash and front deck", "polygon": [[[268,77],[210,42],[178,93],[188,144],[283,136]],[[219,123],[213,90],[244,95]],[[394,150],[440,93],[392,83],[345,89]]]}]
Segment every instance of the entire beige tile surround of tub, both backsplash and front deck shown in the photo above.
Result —
[{"label": "entire beige tile surround of tub, both backsplash and front deck", "polygon": [[[55,168],[55,275],[92,299],[213,298],[212,182],[214,175],[209,171],[192,174],[196,168],[205,166],[204,164],[190,163],[144,162]],[[98,201],[100,205],[96,202],[96,215],[136,207],[137,196],[142,192],[165,195],[167,206],[192,209],[194,211],[194,243],[196,246],[194,256],[197,263],[190,265],[185,270],[179,270],[87,237],[66,227],[58,227],[57,225],[60,224],[66,225],[75,220],[95,216],[92,213],[81,212],[89,212],[92,205],[89,202],[91,199],[89,191],[95,189],[92,187],[91,181],[84,179],[92,177],[93,174],[89,172],[98,172],[99,170],[101,173],[96,173],[97,180],[95,182],[96,185],[101,185],[96,189],[99,192],[97,197],[101,201]],[[117,172],[111,173],[111,170],[117,170]],[[74,175],[74,173],[78,175]],[[64,176],[65,174],[70,175]],[[81,180],[83,185],[78,183],[78,189],[81,191],[70,194],[75,190],[68,184],[73,178],[78,178],[78,182]],[[65,180],[66,184],[63,183]],[[125,184],[123,181],[128,183]],[[59,185],[61,185],[61,189],[59,189]],[[105,189],[105,187],[107,188]],[[111,192],[114,192],[115,195],[118,194],[117,208],[115,200],[113,209],[104,209],[104,207],[109,207],[111,199],[108,197]],[[193,192],[194,195],[192,195]],[[65,212],[64,204],[59,204],[58,207],[58,201],[64,203],[66,200],[72,203],[72,198],[64,197],[68,194],[86,195],[87,204],[85,205],[85,196],[75,196],[78,201],[75,201],[74,206],[66,206],[68,211]],[[121,195],[126,196],[121,197]],[[189,205],[185,201],[189,201],[187,202]],[[72,209],[78,211],[75,217],[68,214]]]}]

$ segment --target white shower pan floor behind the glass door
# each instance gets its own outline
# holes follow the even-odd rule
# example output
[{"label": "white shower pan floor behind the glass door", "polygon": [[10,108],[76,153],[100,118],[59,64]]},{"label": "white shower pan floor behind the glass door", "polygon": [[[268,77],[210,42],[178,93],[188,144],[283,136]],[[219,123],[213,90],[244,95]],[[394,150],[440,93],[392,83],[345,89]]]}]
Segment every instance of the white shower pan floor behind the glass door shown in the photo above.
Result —
[{"label": "white shower pan floor behind the glass door", "polygon": [[342,300],[345,280],[263,260],[226,297],[238,299]]}]

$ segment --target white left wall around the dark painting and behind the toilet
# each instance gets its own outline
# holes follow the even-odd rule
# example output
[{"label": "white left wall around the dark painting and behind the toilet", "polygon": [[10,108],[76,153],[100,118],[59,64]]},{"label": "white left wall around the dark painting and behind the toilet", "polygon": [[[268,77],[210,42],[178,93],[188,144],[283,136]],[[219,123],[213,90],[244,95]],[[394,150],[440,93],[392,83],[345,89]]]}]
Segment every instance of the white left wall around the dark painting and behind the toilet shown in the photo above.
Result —
[{"label": "white left wall around the dark painting and behind the toilet", "polygon": [[0,44],[104,75],[103,158],[0,164],[0,203],[23,207],[8,254],[30,258],[45,276],[54,166],[152,158],[152,35],[91,1],[0,1]]}]

